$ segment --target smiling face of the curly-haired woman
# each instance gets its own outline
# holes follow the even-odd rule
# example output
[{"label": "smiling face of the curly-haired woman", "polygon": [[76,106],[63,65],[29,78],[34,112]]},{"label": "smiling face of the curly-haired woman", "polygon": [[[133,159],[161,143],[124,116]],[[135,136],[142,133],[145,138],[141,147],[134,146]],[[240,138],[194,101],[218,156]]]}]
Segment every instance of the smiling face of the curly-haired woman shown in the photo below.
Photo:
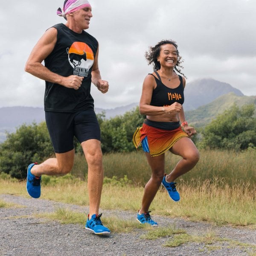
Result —
[{"label": "smiling face of the curly-haired woman", "polygon": [[175,67],[178,60],[177,49],[173,44],[163,44],[158,56],[161,67]]}]

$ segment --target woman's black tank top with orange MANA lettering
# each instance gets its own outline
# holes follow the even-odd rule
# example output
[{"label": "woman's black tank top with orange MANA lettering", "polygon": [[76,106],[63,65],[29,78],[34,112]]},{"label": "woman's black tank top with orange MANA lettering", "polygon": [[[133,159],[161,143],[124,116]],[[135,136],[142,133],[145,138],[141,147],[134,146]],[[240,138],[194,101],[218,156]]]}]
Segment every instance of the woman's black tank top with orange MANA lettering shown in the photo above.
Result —
[{"label": "woman's black tank top with orange MANA lettering", "polygon": [[157,87],[153,90],[152,98],[150,105],[162,107],[162,106],[169,106],[172,105],[174,102],[178,102],[180,104],[184,103],[184,87],[183,87],[183,80],[182,77],[179,75],[180,85],[176,88],[169,88],[163,84],[161,78],[157,72],[158,79],[154,76],[154,79],[157,83]]}]

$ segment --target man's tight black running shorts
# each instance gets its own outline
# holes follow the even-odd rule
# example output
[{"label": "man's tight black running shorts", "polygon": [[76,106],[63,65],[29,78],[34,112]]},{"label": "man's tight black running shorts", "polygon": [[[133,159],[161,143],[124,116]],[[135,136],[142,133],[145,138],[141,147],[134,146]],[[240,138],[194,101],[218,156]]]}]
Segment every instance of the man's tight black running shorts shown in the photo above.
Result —
[{"label": "man's tight black running shorts", "polygon": [[99,122],[92,108],[76,113],[45,111],[45,120],[55,153],[74,148],[74,136],[80,143],[101,140]]}]

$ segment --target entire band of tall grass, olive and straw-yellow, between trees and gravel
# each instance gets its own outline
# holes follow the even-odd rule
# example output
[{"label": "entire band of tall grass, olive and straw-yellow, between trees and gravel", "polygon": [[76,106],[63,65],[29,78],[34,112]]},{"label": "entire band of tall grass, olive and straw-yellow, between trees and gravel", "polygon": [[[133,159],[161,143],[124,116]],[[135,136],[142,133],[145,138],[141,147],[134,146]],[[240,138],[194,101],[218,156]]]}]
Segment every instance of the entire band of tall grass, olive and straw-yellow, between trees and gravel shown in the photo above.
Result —
[{"label": "entire band of tall grass, olive and straw-yellow, between trees and gravel", "polygon": [[[166,172],[180,158],[166,154]],[[201,151],[197,166],[177,180],[180,202],[173,202],[160,189],[151,204],[152,214],[183,217],[215,224],[256,227],[256,151]],[[101,209],[134,211],[140,208],[143,187],[151,175],[141,151],[104,156],[105,184]],[[76,155],[73,175],[43,177],[41,198],[88,205],[87,164]],[[123,177],[127,179],[122,179]],[[80,177],[80,178],[75,178]],[[114,177],[114,178],[112,178]],[[48,183],[48,185],[47,185]],[[26,183],[0,180],[0,194],[27,196]]]}]

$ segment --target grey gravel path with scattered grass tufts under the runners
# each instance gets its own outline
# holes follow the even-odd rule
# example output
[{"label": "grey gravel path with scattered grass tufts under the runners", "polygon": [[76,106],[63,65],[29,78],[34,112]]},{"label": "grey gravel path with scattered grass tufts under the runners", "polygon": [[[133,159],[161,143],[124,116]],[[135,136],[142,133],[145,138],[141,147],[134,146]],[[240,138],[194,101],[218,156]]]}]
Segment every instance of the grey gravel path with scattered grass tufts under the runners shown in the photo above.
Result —
[{"label": "grey gravel path with scattered grass tufts under the runners", "polygon": [[256,229],[218,226],[154,214],[143,226],[136,211],[101,209],[111,236],[84,229],[87,206],[0,195],[0,255],[255,256]]}]

